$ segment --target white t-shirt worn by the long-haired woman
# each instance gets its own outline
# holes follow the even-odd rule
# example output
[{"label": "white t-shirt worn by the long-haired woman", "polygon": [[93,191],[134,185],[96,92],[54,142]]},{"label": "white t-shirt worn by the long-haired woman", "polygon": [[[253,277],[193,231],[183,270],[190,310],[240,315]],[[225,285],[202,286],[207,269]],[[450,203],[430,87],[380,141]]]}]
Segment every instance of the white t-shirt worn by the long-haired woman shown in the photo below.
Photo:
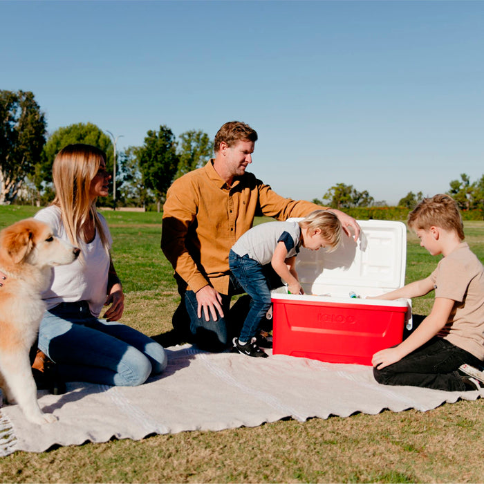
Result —
[{"label": "white t-shirt worn by the long-haired woman", "polygon": [[[60,239],[69,241],[64,224],[61,221],[59,207],[51,205],[35,214],[35,218],[48,223],[57,232]],[[113,243],[109,228],[104,217],[99,214],[104,234],[109,248]],[[43,292],[42,299],[46,301],[47,309],[62,302],[88,301],[93,316],[99,316],[108,286],[109,253],[102,245],[101,237],[96,231],[91,243],[80,246],[82,257],[67,266],[53,268],[53,279],[50,288]]]}]

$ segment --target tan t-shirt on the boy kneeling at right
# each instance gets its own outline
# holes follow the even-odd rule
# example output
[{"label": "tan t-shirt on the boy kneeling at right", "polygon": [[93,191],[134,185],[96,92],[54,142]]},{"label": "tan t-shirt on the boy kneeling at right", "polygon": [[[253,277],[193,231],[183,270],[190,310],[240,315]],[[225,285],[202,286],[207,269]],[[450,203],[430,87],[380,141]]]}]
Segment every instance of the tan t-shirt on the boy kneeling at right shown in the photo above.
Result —
[{"label": "tan t-shirt on the boy kneeling at right", "polygon": [[484,360],[484,268],[460,243],[430,275],[435,296],[454,299],[449,321],[438,336]]}]

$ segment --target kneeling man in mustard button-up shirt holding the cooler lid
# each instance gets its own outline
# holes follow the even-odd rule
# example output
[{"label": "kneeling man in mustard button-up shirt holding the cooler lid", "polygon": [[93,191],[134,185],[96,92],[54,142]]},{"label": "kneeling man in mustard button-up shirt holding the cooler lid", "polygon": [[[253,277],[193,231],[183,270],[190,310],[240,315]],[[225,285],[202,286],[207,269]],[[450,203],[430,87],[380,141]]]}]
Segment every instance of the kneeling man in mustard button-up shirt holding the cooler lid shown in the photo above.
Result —
[{"label": "kneeling man in mustard button-up shirt holding the cooler lid", "polygon": [[[183,336],[208,351],[223,351],[232,341],[230,300],[243,290],[230,273],[228,255],[252,227],[254,216],[285,221],[322,208],[283,198],[245,171],[256,141],[257,132],[248,124],[225,123],[215,136],[215,158],[175,180],[163,208],[161,248],[175,270],[182,297],[174,328],[185,328]],[[360,227],[355,219],[331,211],[347,235],[353,227],[357,239]]]}]

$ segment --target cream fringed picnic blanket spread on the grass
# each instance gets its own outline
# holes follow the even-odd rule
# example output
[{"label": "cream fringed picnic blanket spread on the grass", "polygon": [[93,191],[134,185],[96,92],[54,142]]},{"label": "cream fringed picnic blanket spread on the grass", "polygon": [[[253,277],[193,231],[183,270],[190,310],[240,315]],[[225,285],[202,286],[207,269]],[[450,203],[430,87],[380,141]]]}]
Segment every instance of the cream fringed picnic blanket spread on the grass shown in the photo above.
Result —
[{"label": "cream fringed picnic blanket spread on the grass", "polygon": [[282,418],[427,411],[460,398],[484,397],[484,391],[386,387],[375,382],[370,366],[214,354],[190,345],[172,346],[167,354],[166,371],[140,387],[73,382],[64,395],[39,391],[41,408],[54,413],[57,422],[31,424],[17,405],[3,407],[0,456],[113,437],[140,440],[150,434],[256,427]]}]

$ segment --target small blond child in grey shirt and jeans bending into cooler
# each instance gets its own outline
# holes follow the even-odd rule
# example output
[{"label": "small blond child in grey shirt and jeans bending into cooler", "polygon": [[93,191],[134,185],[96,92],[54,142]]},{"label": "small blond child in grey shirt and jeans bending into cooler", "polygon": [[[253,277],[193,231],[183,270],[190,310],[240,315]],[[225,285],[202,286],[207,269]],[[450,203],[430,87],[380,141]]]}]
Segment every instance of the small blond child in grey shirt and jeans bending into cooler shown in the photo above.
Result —
[{"label": "small blond child in grey shirt and jeans bending into cooler", "polygon": [[341,238],[342,226],[328,210],[315,210],[300,222],[267,222],[245,232],[229,254],[230,270],[245,292],[250,295],[250,310],[241,334],[233,339],[234,353],[267,357],[259,348],[256,334],[270,308],[270,283],[263,266],[273,270],[288,284],[292,294],[303,294],[295,270],[299,247],[310,250],[334,250]]}]

